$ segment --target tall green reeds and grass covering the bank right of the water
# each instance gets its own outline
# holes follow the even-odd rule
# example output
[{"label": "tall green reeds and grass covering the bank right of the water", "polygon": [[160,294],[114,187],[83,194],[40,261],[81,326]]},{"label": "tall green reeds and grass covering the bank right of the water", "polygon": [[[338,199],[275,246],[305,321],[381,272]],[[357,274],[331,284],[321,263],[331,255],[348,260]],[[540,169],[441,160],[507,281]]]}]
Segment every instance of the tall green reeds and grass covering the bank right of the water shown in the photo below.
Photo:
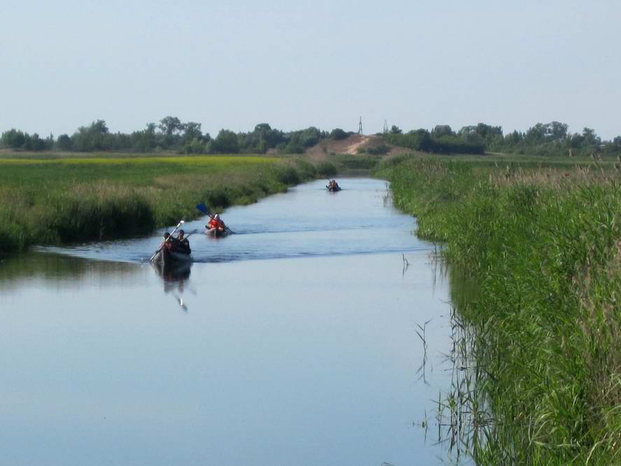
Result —
[{"label": "tall green reeds and grass covering the bank right of the water", "polygon": [[467,397],[483,395],[494,419],[471,453],[621,463],[618,171],[404,159],[380,174],[420,236],[445,242],[455,276],[476,283],[453,296],[482,374]]}]

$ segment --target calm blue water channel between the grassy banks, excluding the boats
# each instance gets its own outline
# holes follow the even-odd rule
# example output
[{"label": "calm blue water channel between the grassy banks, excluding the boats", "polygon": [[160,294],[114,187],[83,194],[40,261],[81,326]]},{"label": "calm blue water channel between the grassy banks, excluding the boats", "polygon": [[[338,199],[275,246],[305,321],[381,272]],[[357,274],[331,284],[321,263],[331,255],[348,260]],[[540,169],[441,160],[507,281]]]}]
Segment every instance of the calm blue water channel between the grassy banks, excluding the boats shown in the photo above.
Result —
[{"label": "calm blue water channel between the grassy banks, excluding the boats", "polygon": [[157,235],[1,263],[3,463],[452,463],[434,245],[385,182],[341,184],[229,209],[236,234],[194,234],[174,273],[147,262]]}]

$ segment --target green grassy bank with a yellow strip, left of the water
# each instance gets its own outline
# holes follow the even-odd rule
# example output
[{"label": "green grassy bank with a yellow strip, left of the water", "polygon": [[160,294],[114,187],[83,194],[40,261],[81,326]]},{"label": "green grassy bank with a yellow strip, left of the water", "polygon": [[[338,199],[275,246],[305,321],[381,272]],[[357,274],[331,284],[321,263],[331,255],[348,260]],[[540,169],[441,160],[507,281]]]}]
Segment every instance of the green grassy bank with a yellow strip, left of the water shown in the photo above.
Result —
[{"label": "green grassy bank with a yellow strip, left of the water", "polygon": [[0,253],[146,234],[196,217],[198,202],[249,204],[315,173],[264,156],[0,157]]}]

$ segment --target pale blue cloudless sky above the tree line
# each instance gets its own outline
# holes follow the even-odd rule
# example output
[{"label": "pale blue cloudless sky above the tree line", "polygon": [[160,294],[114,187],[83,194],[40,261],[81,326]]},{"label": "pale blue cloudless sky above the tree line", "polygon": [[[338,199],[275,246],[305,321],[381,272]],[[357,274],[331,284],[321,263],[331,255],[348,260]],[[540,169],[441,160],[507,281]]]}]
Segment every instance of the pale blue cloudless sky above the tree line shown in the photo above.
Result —
[{"label": "pale blue cloudless sky above the tree line", "polygon": [[621,1],[0,0],[0,132],[621,134]]}]

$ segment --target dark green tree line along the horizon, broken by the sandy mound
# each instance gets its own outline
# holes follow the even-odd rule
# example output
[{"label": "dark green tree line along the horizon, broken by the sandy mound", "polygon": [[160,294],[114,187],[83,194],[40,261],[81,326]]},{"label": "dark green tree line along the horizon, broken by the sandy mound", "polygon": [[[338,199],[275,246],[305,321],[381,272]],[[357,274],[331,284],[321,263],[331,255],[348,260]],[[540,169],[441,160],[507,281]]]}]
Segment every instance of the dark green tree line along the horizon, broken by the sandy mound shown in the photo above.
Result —
[{"label": "dark green tree line along the horizon, broken by the sandy mound", "polygon": [[[345,139],[354,134],[341,128],[331,132],[317,127],[283,132],[268,123],[259,123],[250,132],[233,132],[221,129],[212,138],[203,133],[201,123],[182,122],[166,116],[159,123],[148,123],[145,129],[129,134],[112,133],[105,120],[96,120],[79,127],[71,134],[52,134],[42,138],[18,129],[3,132],[0,146],[20,150],[61,150],[76,152],[123,151],[152,153],[174,150],[186,154],[217,153],[266,153],[273,149],[279,153],[299,154],[326,139]],[[485,152],[531,155],[620,155],[621,136],[602,141],[593,129],[584,128],[580,133],[570,133],[565,123],[553,121],[537,123],[526,132],[504,134],[502,127],[479,123],[464,126],[455,132],[449,125],[436,125],[428,129],[403,132],[393,125],[382,134],[385,142],[428,153],[483,154]]]}]

